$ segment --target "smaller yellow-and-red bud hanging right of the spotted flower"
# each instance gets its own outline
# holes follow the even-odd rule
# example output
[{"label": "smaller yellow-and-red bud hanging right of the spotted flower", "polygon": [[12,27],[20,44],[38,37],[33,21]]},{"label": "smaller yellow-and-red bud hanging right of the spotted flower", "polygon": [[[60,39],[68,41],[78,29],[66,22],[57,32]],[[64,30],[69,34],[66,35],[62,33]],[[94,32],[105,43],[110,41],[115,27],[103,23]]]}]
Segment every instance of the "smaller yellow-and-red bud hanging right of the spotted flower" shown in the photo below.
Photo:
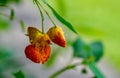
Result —
[{"label": "smaller yellow-and-red bud hanging right of the spotted flower", "polygon": [[66,47],[66,41],[64,37],[64,32],[62,31],[62,28],[60,27],[52,27],[47,32],[50,39],[59,46]]}]

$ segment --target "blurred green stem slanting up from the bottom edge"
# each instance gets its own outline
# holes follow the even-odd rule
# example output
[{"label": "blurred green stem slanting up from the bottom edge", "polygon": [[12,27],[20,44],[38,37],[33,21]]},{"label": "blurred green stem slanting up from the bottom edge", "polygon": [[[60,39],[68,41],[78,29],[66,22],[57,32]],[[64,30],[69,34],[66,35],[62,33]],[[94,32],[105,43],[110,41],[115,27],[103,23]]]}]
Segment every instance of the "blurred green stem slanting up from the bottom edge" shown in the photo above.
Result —
[{"label": "blurred green stem slanting up from the bottom edge", "polygon": [[57,72],[53,73],[49,78],[56,78],[56,76],[58,76],[59,74],[67,71],[67,70],[70,70],[70,69],[73,69],[75,68],[76,66],[80,65],[81,63],[76,63],[76,64],[73,64],[73,65],[68,65],[60,70],[58,70]]}]

